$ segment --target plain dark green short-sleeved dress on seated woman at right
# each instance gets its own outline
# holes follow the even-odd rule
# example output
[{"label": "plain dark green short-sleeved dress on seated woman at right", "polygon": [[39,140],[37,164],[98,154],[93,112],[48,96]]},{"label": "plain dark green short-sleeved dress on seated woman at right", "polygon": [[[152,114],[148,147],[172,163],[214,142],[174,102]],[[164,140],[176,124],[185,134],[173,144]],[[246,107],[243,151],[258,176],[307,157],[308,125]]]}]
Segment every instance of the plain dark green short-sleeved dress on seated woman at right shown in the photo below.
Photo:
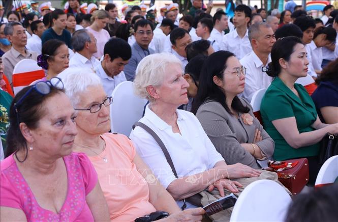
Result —
[{"label": "plain dark green short-sleeved dress on seated woman at right", "polygon": [[300,84],[295,84],[294,88],[300,98],[279,77],[276,77],[262,99],[260,112],[264,129],[274,140],[273,158],[275,160],[310,157],[319,154],[319,143],[298,149],[292,148],[271,123],[273,120],[295,117],[299,133],[316,130],[311,126],[318,116],[312,98]]}]

